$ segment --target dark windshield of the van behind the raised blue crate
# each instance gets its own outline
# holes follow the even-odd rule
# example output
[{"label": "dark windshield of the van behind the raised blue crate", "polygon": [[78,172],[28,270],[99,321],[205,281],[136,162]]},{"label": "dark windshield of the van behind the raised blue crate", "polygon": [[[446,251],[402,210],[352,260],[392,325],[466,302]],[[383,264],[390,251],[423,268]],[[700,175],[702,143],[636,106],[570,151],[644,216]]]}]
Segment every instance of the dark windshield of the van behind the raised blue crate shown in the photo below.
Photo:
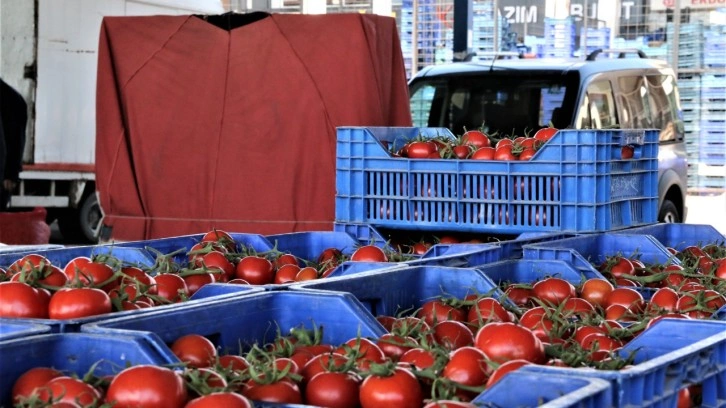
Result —
[{"label": "dark windshield of the van behind the raised blue crate", "polygon": [[413,124],[445,127],[460,135],[522,136],[552,123],[570,127],[577,98],[576,72],[491,72],[417,78],[410,84]]}]

